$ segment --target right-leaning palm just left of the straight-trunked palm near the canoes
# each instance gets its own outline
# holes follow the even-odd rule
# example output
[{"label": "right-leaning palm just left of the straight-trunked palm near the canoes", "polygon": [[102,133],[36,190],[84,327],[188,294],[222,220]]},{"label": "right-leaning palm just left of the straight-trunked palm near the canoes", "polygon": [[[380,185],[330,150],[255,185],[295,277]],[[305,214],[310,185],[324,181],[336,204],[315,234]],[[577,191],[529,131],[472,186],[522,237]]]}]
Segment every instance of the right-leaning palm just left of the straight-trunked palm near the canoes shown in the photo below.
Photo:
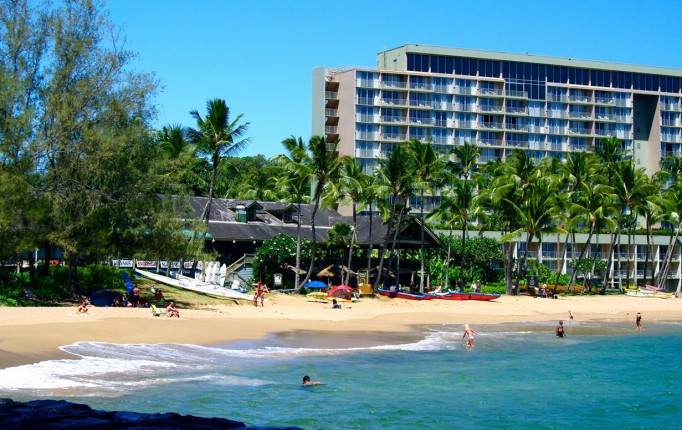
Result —
[{"label": "right-leaning palm just left of the straight-trunked palm near the canoes", "polygon": [[[384,269],[384,258],[388,249],[388,244],[391,240],[391,233],[397,232],[400,229],[400,218],[396,218],[396,208],[398,200],[402,198],[404,201],[409,201],[409,196],[414,189],[414,176],[412,169],[412,161],[407,153],[406,143],[395,145],[395,148],[385,158],[380,158],[379,169],[377,170],[377,180],[379,186],[377,194],[388,196],[390,210],[384,219],[387,224],[386,236],[381,247],[379,258],[379,272],[374,283],[376,289],[380,282]],[[407,200],[405,198],[407,197]],[[404,207],[404,206],[403,206]],[[401,210],[402,213],[402,210]],[[395,242],[395,241],[394,241]]]}]

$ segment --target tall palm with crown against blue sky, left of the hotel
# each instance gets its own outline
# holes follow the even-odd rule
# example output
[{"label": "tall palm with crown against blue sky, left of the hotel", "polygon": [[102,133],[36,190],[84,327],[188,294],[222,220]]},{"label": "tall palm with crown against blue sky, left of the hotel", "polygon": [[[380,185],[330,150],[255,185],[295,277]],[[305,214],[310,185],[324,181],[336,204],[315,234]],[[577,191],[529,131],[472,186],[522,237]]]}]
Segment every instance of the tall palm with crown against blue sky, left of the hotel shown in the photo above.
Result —
[{"label": "tall palm with crown against blue sky, left of the hotel", "polygon": [[[192,110],[189,114],[197,122],[196,129],[190,128],[187,130],[189,138],[196,145],[199,154],[206,155],[211,160],[211,182],[208,188],[208,200],[201,214],[201,219],[206,220],[206,226],[208,227],[218,165],[223,157],[237,155],[251,143],[250,138],[243,138],[249,123],[239,124],[244,114],[239,114],[234,120],[230,120],[230,108],[227,107],[227,103],[222,99],[213,99],[206,102],[205,117],[202,117],[196,110]],[[202,240],[205,240],[206,232],[202,236]]]}]

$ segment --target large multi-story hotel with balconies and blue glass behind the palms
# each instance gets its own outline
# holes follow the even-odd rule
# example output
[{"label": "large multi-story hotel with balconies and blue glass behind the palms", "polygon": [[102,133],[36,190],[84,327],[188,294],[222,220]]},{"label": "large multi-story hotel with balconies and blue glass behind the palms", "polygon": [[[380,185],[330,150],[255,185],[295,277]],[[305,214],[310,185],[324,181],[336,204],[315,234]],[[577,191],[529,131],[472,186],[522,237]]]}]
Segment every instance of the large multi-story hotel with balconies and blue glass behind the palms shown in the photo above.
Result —
[{"label": "large multi-story hotel with balconies and blue glass behind the palms", "polygon": [[[682,155],[681,88],[677,69],[405,45],[380,52],[376,69],[313,70],[312,134],[339,141],[367,173],[412,138],[443,152],[476,143],[487,162],[517,148],[563,158],[616,136],[651,174],[665,155]],[[543,251],[556,253],[534,252]]]}]

